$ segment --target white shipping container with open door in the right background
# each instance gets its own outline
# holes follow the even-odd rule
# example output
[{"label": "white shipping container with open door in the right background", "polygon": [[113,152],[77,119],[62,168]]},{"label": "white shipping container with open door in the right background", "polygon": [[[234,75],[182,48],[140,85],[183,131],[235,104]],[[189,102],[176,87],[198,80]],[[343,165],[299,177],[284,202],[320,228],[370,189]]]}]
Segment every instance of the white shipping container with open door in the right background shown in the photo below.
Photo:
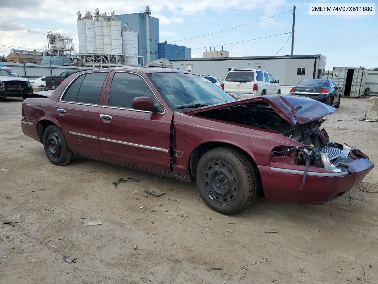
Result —
[{"label": "white shipping container with open door in the right background", "polygon": [[366,68],[333,67],[332,80],[341,87],[343,96],[358,98],[365,92],[367,72]]}]

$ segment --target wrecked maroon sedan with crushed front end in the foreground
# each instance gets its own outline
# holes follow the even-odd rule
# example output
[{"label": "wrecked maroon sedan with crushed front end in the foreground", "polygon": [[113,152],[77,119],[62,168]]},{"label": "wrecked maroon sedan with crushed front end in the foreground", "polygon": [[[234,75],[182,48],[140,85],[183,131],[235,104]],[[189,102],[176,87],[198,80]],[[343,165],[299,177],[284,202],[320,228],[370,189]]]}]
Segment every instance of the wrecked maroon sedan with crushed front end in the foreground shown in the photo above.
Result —
[{"label": "wrecked maroon sedan with crushed front end in the foreground", "polygon": [[374,166],[329,140],[321,124],[335,108],[311,98],[235,100],[201,76],[158,67],[80,72],[44,94],[23,102],[21,125],[53,164],[76,153],[195,179],[204,202],[223,214],[247,209],[259,193],[326,203]]}]

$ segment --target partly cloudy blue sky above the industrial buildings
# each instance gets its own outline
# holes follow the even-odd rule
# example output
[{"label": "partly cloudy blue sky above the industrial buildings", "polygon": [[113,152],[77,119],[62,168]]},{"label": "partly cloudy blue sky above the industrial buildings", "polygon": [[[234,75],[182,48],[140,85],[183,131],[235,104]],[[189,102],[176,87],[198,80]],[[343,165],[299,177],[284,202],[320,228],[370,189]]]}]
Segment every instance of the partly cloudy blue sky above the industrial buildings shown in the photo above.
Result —
[{"label": "partly cloudy blue sky above the industrial buildings", "polygon": [[[319,2],[376,3],[311,1]],[[286,11],[295,5],[294,55],[326,56],[326,69],[378,67],[378,15],[310,16],[308,2],[289,0],[0,0],[0,55],[7,56],[11,48],[42,51],[48,31],[73,37],[78,50],[77,11],[94,12],[98,8],[100,13],[114,11],[117,15],[141,12],[145,5],[150,6],[151,16],[160,19],[160,42],[190,47],[192,57],[202,57],[210,46],[220,50],[222,45],[230,57],[290,54],[293,15]],[[245,26],[201,36],[240,25]],[[188,39],[191,37],[195,38]],[[240,43],[231,44],[234,42]]]}]

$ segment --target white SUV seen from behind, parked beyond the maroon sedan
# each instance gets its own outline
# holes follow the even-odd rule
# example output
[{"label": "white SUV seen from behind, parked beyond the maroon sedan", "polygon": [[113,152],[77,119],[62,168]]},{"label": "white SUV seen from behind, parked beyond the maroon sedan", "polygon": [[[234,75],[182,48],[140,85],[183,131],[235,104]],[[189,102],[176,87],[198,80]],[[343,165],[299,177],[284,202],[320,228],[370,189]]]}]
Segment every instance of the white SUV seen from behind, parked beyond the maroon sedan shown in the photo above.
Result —
[{"label": "white SUV seen from behind, parked beyond the maroon sedan", "polygon": [[281,94],[279,80],[262,69],[238,69],[228,72],[222,89],[235,98]]}]

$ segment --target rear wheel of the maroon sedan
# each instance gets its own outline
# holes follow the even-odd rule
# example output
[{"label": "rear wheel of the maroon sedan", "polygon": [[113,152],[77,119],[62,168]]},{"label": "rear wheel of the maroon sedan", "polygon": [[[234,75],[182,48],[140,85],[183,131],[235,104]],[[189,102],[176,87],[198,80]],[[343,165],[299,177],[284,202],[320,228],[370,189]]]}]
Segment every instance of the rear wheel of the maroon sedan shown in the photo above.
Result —
[{"label": "rear wheel of the maroon sedan", "polygon": [[72,159],[72,151],[68,148],[63,133],[55,125],[46,127],[43,133],[43,148],[47,158],[54,165],[67,165]]}]

